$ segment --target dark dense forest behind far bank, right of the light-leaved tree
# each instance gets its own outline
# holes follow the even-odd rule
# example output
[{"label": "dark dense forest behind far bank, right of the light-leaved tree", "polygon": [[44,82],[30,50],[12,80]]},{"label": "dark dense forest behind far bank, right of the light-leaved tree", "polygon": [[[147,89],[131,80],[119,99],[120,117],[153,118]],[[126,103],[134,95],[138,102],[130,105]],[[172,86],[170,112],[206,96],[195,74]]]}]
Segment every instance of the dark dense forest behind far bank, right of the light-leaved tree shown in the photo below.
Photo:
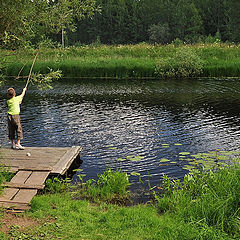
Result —
[{"label": "dark dense forest behind far bank, right of the light-leaved tree", "polygon": [[77,25],[69,43],[187,43],[240,40],[239,0],[97,0],[101,13]]}]

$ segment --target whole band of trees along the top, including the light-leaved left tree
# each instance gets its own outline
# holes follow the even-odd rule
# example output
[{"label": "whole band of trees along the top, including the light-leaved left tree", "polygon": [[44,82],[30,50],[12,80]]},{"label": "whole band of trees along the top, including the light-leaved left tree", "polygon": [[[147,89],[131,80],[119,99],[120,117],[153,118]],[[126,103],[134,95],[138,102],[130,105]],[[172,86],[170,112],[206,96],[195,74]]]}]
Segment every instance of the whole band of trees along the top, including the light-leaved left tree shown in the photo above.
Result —
[{"label": "whole band of trees along the top, including the light-leaved left tree", "polygon": [[239,0],[0,0],[0,43],[237,43],[239,11]]}]

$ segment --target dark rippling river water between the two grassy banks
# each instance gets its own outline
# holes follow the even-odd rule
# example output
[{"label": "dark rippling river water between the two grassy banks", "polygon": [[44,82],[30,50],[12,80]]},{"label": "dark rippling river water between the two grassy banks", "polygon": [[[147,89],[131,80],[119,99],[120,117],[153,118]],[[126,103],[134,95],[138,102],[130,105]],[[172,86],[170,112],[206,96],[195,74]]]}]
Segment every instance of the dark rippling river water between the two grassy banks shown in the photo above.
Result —
[{"label": "dark rippling river water between the two grassy banks", "polygon": [[[9,144],[5,92],[10,85],[18,93],[24,86],[0,88],[1,145]],[[140,161],[119,162],[118,167],[157,185],[162,173],[186,173],[179,152],[239,149],[239,90],[240,80],[66,80],[42,92],[30,86],[21,107],[22,143],[81,145],[80,167],[86,179],[115,169],[118,158],[142,156]],[[162,158],[177,164],[160,165]],[[138,186],[138,177],[130,179]]]}]

